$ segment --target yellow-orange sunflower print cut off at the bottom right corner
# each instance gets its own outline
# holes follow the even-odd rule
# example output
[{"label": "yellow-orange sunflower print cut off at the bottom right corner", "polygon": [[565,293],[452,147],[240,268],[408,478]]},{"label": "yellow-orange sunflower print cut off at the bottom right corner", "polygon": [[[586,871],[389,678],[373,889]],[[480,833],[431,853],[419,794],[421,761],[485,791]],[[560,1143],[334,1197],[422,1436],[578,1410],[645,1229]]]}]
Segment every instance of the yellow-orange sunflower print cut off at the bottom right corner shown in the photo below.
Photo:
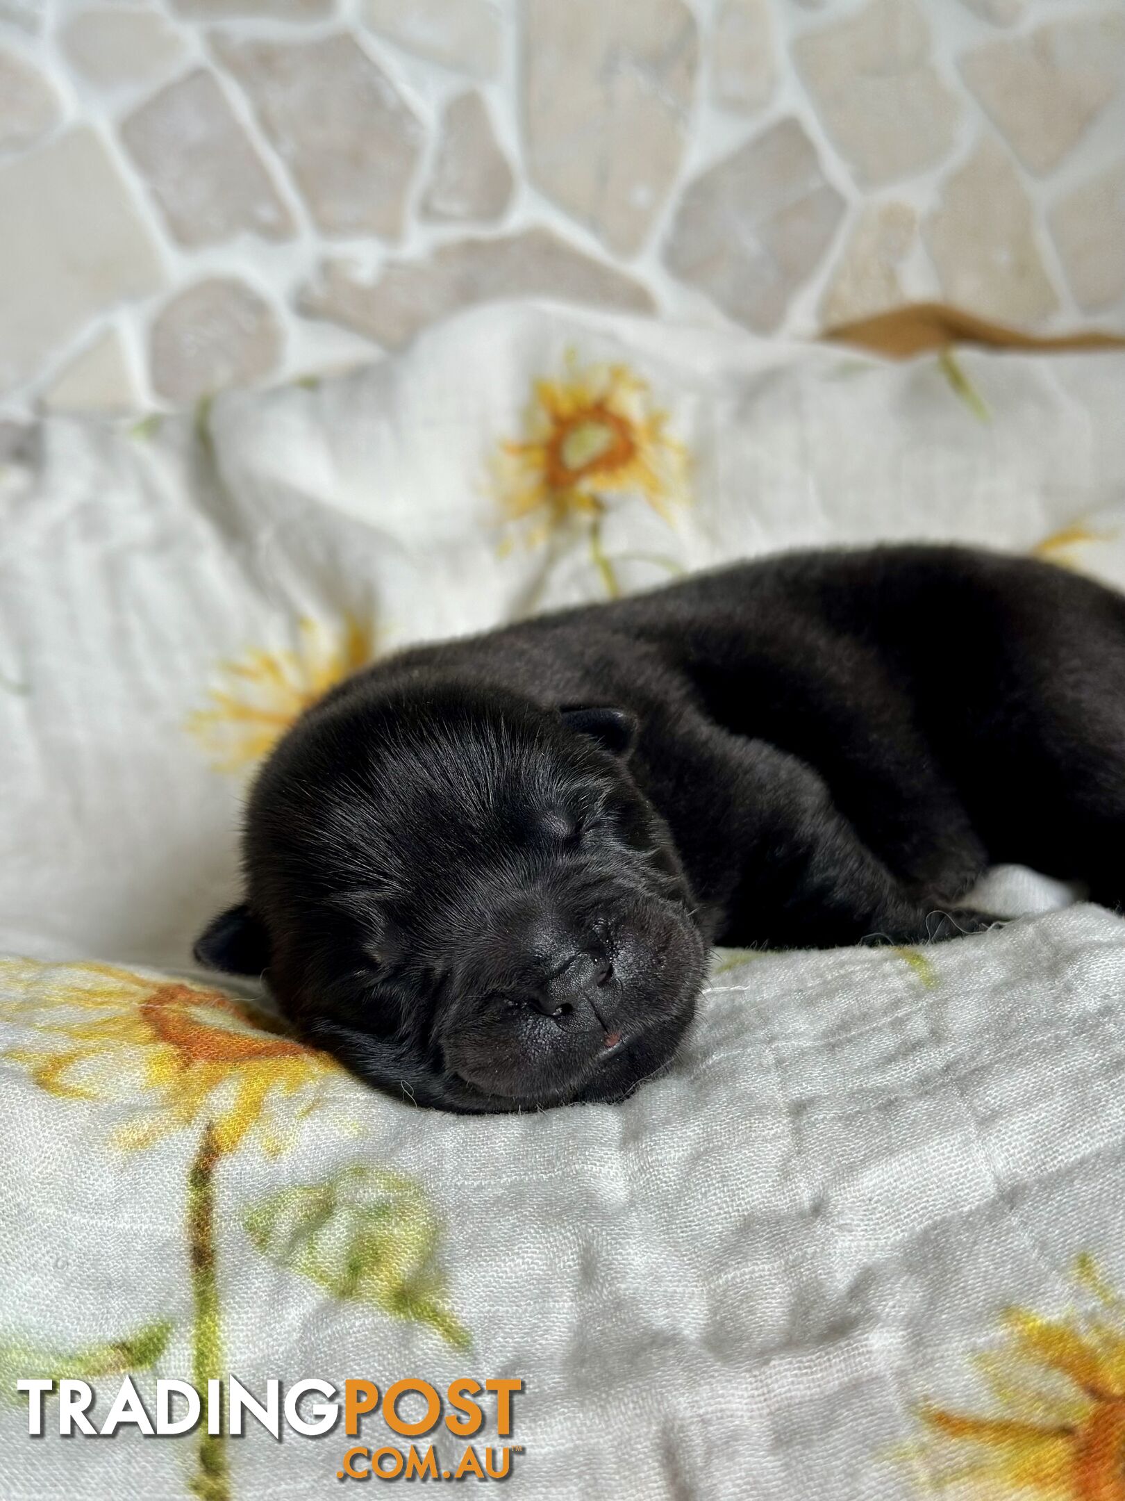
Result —
[{"label": "yellow-orange sunflower print cut off at the bottom right corner", "polygon": [[1078,1256],[1090,1307],[1065,1318],[1004,1316],[1006,1345],[976,1361],[999,1412],[927,1406],[939,1489],[1050,1501],[1125,1501],[1125,1300]]}]

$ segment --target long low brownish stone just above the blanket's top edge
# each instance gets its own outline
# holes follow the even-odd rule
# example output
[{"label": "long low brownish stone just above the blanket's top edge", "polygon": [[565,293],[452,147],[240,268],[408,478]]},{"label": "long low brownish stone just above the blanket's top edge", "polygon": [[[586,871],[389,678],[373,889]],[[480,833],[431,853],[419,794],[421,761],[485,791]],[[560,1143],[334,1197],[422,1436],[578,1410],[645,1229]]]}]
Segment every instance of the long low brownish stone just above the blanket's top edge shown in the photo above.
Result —
[{"label": "long low brownish stone just above the blanket's top edge", "polygon": [[298,308],[396,350],[458,308],[504,297],[654,311],[639,282],[591,260],[550,230],[442,245],[424,260],[390,261],[374,284],[360,281],[345,261],[326,261],[320,284],[304,288]]}]

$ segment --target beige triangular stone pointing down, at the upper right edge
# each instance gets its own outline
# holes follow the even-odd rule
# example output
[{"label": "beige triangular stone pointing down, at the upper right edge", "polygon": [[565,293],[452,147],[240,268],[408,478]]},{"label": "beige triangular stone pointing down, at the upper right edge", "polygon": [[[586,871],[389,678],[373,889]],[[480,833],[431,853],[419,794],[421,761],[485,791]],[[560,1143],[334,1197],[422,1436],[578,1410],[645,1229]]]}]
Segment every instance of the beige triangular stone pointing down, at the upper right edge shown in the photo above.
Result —
[{"label": "beige triangular stone pointing down, at the upper right edge", "polygon": [[1048,173],[1125,77],[1125,15],[1088,12],[987,42],[962,72],[1020,161]]}]

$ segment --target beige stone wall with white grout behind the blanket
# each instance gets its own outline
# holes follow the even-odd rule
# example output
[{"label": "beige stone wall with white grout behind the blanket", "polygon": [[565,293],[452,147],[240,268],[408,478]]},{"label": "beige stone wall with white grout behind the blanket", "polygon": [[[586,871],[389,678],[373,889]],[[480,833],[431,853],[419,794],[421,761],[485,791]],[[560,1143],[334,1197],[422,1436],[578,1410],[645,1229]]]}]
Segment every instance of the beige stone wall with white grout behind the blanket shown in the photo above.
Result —
[{"label": "beige stone wall with white grout behind the blanket", "polygon": [[1125,5],[0,0],[0,410],[519,294],[1125,330]]}]

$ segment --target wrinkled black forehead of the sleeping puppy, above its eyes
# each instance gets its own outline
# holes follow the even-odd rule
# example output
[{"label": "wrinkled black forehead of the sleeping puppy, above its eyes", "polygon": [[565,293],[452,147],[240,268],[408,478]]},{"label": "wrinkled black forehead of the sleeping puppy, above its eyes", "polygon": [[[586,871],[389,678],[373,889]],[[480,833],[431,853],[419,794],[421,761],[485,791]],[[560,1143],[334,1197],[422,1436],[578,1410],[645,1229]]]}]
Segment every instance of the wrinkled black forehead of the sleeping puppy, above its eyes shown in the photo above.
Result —
[{"label": "wrinkled black forehead of the sleeping puppy, above its eyes", "polygon": [[543,838],[566,836],[614,781],[612,757],[520,699],[339,699],[262,772],[250,872],[267,901],[294,880],[312,899],[350,889],[438,899],[466,871],[531,859]]}]

